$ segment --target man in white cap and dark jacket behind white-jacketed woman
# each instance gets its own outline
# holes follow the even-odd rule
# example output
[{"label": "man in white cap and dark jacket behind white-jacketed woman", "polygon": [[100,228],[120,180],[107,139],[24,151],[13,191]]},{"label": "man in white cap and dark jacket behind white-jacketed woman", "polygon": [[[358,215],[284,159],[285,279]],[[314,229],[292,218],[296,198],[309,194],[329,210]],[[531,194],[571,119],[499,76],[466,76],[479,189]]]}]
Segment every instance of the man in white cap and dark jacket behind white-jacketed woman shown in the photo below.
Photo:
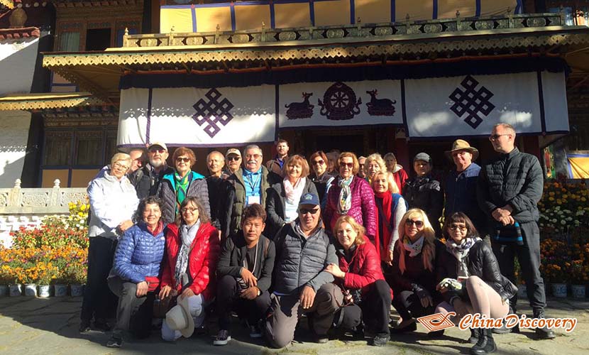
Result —
[{"label": "man in white cap and dark jacket behind white-jacketed woman", "polygon": [[168,153],[165,143],[156,141],[148,144],[147,148],[149,163],[129,176],[139,200],[155,196],[163,176],[173,171],[166,163]]}]

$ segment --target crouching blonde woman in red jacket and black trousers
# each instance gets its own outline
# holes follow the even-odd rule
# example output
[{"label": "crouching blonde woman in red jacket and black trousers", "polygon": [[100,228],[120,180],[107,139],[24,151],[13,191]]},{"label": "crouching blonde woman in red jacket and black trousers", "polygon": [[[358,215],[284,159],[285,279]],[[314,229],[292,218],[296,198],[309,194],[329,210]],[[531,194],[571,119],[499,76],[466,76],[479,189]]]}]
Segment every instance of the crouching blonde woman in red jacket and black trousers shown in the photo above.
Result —
[{"label": "crouching blonde woman in red jacket and black trousers", "polygon": [[339,217],[334,226],[339,265],[330,264],[326,271],[334,275],[343,290],[344,304],[334,323],[355,329],[364,320],[375,334],[371,345],[383,346],[390,339],[389,321],[392,290],[380,268],[380,258],[372,243],[364,239],[365,229],[352,217]]}]

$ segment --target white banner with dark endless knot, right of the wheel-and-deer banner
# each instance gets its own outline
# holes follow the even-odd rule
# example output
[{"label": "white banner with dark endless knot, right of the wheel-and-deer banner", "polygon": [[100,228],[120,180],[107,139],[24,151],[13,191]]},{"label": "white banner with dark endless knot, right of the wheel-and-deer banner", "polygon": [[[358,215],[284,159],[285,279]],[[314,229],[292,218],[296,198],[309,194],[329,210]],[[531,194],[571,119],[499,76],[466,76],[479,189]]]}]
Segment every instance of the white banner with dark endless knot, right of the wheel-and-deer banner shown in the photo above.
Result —
[{"label": "white banner with dark endless knot, right of the wheel-and-deer banner", "polygon": [[500,122],[517,133],[568,131],[563,73],[405,80],[405,89],[409,137],[488,135]]}]

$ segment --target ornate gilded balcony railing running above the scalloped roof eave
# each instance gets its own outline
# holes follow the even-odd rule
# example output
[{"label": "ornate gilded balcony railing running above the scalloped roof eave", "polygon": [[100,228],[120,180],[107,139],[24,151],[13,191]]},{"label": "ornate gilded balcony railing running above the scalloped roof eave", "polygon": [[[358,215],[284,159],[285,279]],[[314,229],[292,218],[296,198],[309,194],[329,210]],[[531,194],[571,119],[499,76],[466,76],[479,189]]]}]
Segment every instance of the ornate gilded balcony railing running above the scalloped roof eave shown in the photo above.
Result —
[{"label": "ornate gilded balcony railing running above the scalloped roof eave", "polygon": [[[411,21],[409,15],[403,22],[361,23],[356,25],[317,26],[307,28],[265,28],[252,31],[215,31],[201,33],[155,33],[123,35],[123,47],[167,47],[172,45],[231,45],[237,43],[280,43],[304,40],[334,40],[339,38],[378,38],[387,35],[417,35],[436,33],[456,33],[468,31],[501,30],[510,28],[546,28],[564,26],[562,13],[506,13],[500,16],[456,18]],[[219,28],[219,25],[217,25]]]}]

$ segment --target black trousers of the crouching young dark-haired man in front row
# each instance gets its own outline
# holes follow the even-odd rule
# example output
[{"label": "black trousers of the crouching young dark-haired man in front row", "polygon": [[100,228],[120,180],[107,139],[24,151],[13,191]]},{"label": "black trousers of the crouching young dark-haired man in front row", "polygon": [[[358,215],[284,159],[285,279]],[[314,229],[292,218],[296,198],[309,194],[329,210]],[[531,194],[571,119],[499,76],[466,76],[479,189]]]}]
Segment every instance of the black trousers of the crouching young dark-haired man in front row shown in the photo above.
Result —
[{"label": "black trousers of the crouching young dark-haired man in front row", "polygon": [[224,275],[217,280],[216,310],[219,315],[219,329],[231,329],[231,311],[236,310],[239,317],[246,318],[248,324],[258,324],[270,307],[270,293],[263,292],[253,300],[239,297],[241,288],[236,278]]}]

